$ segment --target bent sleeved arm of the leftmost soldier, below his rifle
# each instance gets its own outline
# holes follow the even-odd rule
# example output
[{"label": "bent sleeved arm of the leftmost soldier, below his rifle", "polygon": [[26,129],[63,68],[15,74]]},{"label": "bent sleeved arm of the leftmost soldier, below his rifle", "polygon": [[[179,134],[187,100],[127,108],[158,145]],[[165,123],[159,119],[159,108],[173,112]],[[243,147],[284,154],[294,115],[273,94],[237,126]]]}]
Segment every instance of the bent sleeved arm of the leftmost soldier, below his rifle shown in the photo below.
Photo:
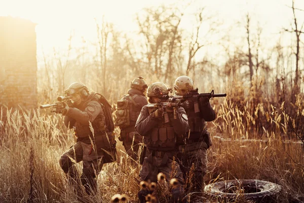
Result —
[{"label": "bent sleeved arm of the leftmost soldier, below his rifle", "polygon": [[102,108],[98,101],[90,101],[85,111],[81,111],[77,108],[69,108],[66,112],[66,116],[71,117],[84,125],[89,125],[89,121],[92,123],[101,111]]}]

